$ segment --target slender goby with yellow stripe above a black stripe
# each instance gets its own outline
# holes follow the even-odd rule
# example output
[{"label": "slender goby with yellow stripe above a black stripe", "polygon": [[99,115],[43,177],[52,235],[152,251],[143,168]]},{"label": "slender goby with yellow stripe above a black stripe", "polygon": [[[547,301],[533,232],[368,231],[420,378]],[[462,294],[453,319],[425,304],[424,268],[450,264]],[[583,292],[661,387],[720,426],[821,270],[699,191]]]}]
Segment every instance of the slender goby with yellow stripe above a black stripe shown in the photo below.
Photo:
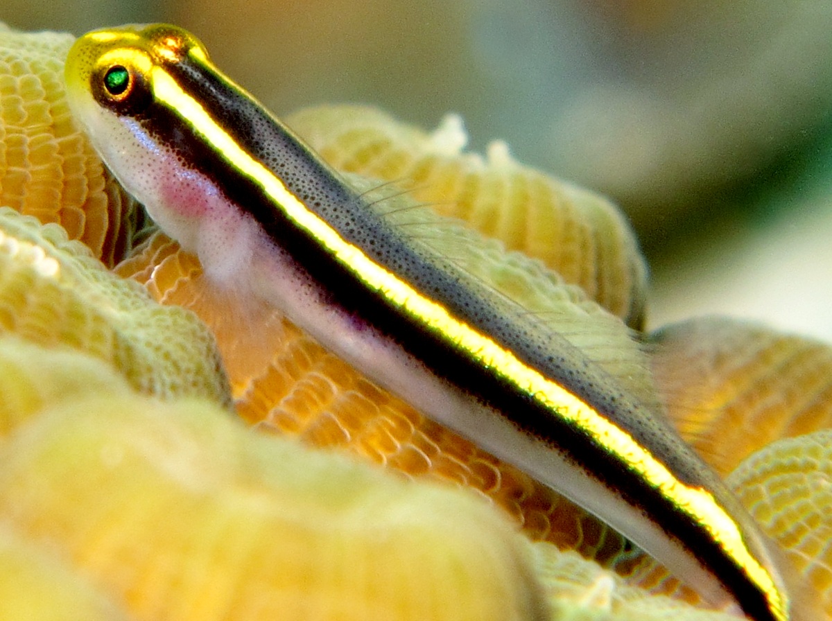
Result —
[{"label": "slender goby with yellow stripe above a black stripe", "polygon": [[78,39],[72,112],[210,278],[598,515],[715,604],[795,619],[763,538],[669,429],[547,323],[389,223],[190,33]]}]

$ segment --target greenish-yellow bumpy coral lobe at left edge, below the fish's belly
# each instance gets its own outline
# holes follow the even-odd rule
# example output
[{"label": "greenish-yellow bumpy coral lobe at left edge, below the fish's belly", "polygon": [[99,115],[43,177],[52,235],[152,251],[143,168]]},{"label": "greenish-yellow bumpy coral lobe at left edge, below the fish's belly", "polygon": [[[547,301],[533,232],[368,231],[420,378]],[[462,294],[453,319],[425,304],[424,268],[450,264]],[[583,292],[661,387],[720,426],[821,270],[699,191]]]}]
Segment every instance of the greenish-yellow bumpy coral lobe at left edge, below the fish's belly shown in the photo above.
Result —
[{"label": "greenish-yellow bumpy coral lobe at left edge, below the fish's belly", "polygon": [[160,307],[57,224],[8,208],[0,209],[0,332],[89,352],[144,392],[230,403],[214,338],[192,313]]}]

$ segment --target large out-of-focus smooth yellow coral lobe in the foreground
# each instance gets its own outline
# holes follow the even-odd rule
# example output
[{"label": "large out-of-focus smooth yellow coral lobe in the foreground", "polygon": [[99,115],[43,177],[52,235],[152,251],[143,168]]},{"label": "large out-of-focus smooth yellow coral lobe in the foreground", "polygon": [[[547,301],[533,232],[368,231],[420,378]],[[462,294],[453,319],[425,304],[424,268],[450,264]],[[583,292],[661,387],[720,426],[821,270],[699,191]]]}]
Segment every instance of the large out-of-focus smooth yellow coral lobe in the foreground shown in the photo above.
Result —
[{"label": "large out-of-focus smooth yellow coral lobe in the foreground", "polygon": [[136,619],[546,618],[522,540],[478,499],[252,434],[209,402],[123,382],[54,397],[0,450],[0,514]]}]

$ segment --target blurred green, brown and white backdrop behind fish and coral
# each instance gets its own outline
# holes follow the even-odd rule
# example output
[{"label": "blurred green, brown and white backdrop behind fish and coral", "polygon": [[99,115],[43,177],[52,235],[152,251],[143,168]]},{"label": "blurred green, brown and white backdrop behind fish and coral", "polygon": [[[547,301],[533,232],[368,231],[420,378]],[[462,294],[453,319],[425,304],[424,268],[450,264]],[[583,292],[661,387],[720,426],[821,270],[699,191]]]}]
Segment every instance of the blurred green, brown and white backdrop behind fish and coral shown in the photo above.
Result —
[{"label": "blurred green, brown and white backdrop behind fish and coral", "polygon": [[704,313],[832,341],[828,0],[4,0],[27,30],[175,22],[278,115],[360,102],[609,195],[648,326]]}]

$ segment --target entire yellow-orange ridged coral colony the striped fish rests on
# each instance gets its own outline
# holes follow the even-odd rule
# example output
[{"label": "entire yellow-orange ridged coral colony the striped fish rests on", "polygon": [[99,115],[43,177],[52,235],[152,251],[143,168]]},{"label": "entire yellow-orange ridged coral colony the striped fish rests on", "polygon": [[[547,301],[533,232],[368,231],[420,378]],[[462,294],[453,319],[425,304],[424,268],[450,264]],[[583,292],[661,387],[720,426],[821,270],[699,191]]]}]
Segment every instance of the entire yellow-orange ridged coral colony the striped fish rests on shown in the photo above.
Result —
[{"label": "entire yellow-orange ridged coral colony the striped fish rests on", "polygon": [[[16,599],[0,606],[35,610],[57,584],[78,607],[64,611],[90,618],[730,619],[691,608],[696,595],[617,533],[270,309],[245,314],[171,240],[151,234],[134,248],[141,210],[62,101],[71,42],[0,30],[0,205],[67,231],[0,212],[0,570],[25,559],[14,575],[32,576],[26,589],[5,578]],[[641,327],[646,270],[606,200],[518,164],[499,143],[486,157],[466,153],[453,119],[433,134],[357,106],[288,121],[339,169],[393,180],[532,257],[495,243],[475,269],[533,312],[557,314],[567,333],[569,322],[597,322],[597,337],[576,344],[634,389],[656,382],[681,432],[733,471],[732,488],[832,618],[832,500],[816,485],[832,467],[828,347],[701,319],[651,335],[646,354],[626,328]],[[381,188],[379,200],[399,191]],[[240,330],[241,313],[261,327]],[[271,433],[235,424],[232,399]],[[721,431],[738,427],[760,429],[742,434],[741,452]],[[376,550],[381,532],[388,543]]]}]

